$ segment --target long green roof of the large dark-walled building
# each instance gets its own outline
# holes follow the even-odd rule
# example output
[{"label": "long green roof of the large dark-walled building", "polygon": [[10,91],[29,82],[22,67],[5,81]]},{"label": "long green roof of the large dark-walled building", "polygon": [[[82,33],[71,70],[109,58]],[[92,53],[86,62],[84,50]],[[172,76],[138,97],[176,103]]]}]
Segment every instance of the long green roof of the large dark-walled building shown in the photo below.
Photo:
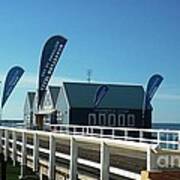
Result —
[{"label": "long green roof of the large dark-walled building", "polygon": [[[102,84],[64,82],[63,85],[70,107],[93,108],[94,96]],[[142,109],[144,99],[142,86],[106,85],[109,90],[98,108]]]}]

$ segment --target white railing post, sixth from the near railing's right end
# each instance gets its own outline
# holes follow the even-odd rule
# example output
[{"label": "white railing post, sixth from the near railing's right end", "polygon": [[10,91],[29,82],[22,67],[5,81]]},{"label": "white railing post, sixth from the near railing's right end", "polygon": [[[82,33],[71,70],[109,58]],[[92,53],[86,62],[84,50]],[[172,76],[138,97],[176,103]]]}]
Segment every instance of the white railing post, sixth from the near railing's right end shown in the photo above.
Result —
[{"label": "white railing post, sixth from the near railing's right end", "polygon": [[26,167],[27,167],[27,136],[25,132],[22,132],[22,156],[21,156],[21,175],[20,178],[22,179],[26,176]]}]

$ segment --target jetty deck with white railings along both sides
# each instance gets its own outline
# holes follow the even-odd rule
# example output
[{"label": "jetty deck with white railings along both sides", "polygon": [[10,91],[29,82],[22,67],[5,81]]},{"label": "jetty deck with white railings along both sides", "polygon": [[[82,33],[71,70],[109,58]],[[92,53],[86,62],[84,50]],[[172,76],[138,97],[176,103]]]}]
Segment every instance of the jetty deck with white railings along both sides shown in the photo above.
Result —
[{"label": "jetty deck with white railings along both sides", "polygon": [[[0,152],[5,162],[11,159],[14,166],[20,163],[20,179],[177,180],[180,177],[180,131],[49,127],[51,132],[0,127]],[[135,131],[138,137],[131,136]],[[164,139],[167,135],[172,140]]]}]

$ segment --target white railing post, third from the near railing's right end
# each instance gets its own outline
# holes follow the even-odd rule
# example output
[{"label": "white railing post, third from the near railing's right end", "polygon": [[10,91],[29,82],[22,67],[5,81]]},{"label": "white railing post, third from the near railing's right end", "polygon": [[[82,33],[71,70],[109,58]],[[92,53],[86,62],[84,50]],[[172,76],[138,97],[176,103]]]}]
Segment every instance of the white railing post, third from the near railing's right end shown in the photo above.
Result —
[{"label": "white railing post, third from the near railing's right end", "polygon": [[70,180],[77,179],[78,173],[77,173],[77,158],[78,158],[78,144],[76,140],[72,137],[71,142],[71,152],[70,152]]}]

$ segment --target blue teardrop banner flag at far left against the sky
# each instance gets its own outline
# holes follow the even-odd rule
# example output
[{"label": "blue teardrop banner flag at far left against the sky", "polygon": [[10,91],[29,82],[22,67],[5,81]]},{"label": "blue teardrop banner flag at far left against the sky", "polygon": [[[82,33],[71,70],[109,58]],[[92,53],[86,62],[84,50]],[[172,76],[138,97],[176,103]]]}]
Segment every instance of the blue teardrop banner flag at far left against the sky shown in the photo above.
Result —
[{"label": "blue teardrop banner flag at far left against the sky", "polygon": [[1,108],[4,107],[8,97],[12,93],[13,89],[15,88],[16,84],[20,80],[23,73],[24,73],[24,70],[19,66],[14,66],[9,70],[6,76],[5,84],[4,84]]}]

